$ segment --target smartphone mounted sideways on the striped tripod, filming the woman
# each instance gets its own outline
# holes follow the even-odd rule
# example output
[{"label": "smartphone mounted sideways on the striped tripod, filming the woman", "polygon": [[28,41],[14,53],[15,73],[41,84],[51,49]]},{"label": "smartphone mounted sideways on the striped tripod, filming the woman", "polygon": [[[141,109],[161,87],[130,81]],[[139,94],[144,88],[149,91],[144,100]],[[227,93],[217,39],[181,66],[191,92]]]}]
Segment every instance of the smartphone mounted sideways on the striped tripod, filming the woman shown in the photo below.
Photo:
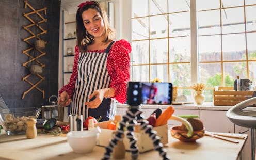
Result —
[{"label": "smartphone mounted sideways on the striped tripod, filming the woman", "polygon": [[172,84],[151,82],[129,82],[127,104],[171,104]]}]

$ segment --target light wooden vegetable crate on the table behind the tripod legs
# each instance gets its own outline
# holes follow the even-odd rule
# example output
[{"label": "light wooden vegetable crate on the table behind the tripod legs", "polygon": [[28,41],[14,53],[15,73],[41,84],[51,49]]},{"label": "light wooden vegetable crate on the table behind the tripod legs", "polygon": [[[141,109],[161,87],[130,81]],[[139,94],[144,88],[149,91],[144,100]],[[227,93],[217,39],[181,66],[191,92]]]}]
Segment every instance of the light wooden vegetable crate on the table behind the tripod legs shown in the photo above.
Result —
[{"label": "light wooden vegetable crate on the table behind the tripod legs", "polygon": [[[95,126],[101,127],[101,133],[99,136],[99,140],[97,142],[98,146],[108,146],[109,140],[113,139],[115,131],[104,129],[104,127],[106,127],[108,122],[109,121],[100,122],[100,123],[94,124],[93,126],[93,127]],[[161,143],[163,143],[163,145],[168,143],[168,125],[167,124],[153,127],[152,130],[157,132],[157,136],[161,137]],[[125,131],[124,133],[125,133],[125,136],[123,138],[123,143],[125,146],[125,150],[130,151],[130,142],[129,142],[129,139],[126,137],[127,132]],[[144,130],[140,130],[140,127],[137,127],[137,126],[135,127],[134,136],[137,138],[136,144],[140,153],[154,149],[151,138],[147,133],[145,133]]]}]

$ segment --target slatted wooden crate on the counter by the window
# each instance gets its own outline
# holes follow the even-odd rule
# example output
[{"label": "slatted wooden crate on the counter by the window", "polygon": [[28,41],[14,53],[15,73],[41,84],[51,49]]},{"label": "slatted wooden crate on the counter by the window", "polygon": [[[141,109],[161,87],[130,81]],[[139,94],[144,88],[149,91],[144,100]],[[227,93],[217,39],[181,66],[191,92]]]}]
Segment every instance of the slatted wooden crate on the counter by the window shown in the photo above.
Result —
[{"label": "slatted wooden crate on the counter by the window", "polygon": [[218,87],[213,91],[213,105],[234,106],[247,100],[252,94],[253,91],[235,91],[233,87]]}]

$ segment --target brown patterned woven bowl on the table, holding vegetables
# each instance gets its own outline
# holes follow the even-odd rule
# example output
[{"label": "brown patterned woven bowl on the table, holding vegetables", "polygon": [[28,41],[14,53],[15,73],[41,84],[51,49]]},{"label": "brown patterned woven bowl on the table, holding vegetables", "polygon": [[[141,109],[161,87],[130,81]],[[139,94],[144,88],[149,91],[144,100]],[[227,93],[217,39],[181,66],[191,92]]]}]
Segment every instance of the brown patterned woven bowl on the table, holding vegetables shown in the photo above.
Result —
[{"label": "brown patterned woven bowl on the table, holding vegetables", "polygon": [[171,130],[171,136],[184,142],[195,142],[197,139],[204,136],[204,130],[193,131],[190,137],[187,136],[187,131],[180,130],[181,126],[173,126]]}]

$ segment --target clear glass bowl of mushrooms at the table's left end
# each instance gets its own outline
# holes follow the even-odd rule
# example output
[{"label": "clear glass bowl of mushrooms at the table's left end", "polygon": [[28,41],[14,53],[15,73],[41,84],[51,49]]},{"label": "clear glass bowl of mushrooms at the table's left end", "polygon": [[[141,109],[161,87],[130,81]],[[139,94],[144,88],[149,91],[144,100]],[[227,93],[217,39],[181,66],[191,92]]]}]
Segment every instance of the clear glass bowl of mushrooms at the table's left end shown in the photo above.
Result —
[{"label": "clear glass bowl of mushrooms at the table's left end", "polygon": [[41,108],[8,108],[0,110],[0,124],[7,132],[7,135],[26,134],[28,118],[37,119]]}]

